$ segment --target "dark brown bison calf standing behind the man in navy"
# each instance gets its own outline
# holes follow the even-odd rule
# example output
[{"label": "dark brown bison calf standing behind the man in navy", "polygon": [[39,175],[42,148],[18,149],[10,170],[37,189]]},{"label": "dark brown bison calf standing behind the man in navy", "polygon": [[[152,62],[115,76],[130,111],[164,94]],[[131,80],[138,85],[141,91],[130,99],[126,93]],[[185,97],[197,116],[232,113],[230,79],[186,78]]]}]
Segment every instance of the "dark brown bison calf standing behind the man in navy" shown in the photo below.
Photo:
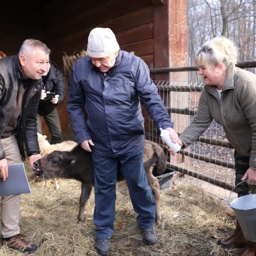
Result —
[{"label": "dark brown bison calf standing behind the man in navy", "polygon": [[[160,145],[146,140],[144,151],[144,166],[148,185],[152,189],[156,200],[156,223],[160,223],[160,185],[154,173],[161,174],[166,168],[166,158]],[[91,190],[94,186],[93,159],[90,152],[83,150],[81,146],[75,146],[71,151],[54,150],[47,156],[34,162],[33,173],[40,179],[75,179],[81,182],[81,196],[79,200],[79,213],[77,220],[83,221],[85,205],[89,200]],[[117,181],[121,181],[123,175],[118,171]]]}]

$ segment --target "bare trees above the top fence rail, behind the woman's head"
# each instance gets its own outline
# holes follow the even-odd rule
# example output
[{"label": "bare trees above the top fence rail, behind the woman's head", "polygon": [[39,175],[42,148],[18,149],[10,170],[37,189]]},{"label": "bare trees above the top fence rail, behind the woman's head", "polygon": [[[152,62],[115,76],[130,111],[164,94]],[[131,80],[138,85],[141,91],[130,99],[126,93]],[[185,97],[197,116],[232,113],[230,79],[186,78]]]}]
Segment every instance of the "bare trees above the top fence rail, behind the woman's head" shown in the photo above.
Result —
[{"label": "bare trees above the top fence rail, behind the woman's head", "polygon": [[189,60],[203,41],[225,36],[238,46],[239,61],[255,58],[255,0],[188,0]]}]

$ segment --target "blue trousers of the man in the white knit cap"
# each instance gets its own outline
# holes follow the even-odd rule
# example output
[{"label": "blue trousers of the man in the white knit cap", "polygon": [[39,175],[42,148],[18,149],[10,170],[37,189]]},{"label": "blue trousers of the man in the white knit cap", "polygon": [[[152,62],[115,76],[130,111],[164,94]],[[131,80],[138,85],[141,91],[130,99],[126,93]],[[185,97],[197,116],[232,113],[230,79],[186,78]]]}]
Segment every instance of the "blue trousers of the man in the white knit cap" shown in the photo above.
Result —
[{"label": "blue trousers of the man in the white knit cap", "polygon": [[114,234],[116,219],[117,164],[125,177],[133,209],[138,213],[141,228],[150,228],[156,219],[156,202],[144,171],[144,148],[118,158],[93,156],[95,165],[95,211],[96,237],[110,239]]}]

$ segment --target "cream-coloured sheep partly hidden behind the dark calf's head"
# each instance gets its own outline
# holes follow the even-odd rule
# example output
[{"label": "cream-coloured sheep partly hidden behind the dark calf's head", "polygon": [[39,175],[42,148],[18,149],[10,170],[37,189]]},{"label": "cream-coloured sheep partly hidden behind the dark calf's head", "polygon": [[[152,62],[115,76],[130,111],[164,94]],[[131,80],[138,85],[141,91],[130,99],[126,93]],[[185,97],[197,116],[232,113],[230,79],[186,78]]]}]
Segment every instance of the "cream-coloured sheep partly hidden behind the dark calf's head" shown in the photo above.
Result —
[{"label": "cream-coloured sheep partly hidden behind the dark calf's head", "polygon": [[[41,135],[41,133],[37,133],[37,140],[38,140],[41,156],[46,156],[47,154],[53,152],[54,150],[70,151],[75,146],[77,146],[77,143],[73,140],[66,140],[58,144],[50,144],[46,138],[47,138],[46,135]],[[58,190],[59,186],[56,178],[54,178],[54,184],[55,184],[55,189]],[[45,180],[45,188],[47,187],[48,187],[48,182],[47,180]]]}]

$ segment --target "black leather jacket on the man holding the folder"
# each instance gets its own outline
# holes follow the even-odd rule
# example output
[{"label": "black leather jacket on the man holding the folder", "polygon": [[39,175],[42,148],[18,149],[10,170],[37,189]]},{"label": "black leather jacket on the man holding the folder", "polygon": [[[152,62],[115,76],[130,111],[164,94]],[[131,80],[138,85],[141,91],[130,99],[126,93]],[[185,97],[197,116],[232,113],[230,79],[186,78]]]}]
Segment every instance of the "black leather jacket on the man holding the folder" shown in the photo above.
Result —
[{"label": "black leather jacket on the man holding the folder", "polygon": [[[9,123],[18,87],[22,85],[23,72],[18,55],[0,59],[0,137]],[[17,120],[16,139],[22,159],[25,159],[24,143],[28,155],[39,153],[37,141],[37,107],[43,86],[42,79],[32,80],[26,86],[22,100],[22,110]],[[5,158],[5,150],[0,140],[0,159]]]}]

